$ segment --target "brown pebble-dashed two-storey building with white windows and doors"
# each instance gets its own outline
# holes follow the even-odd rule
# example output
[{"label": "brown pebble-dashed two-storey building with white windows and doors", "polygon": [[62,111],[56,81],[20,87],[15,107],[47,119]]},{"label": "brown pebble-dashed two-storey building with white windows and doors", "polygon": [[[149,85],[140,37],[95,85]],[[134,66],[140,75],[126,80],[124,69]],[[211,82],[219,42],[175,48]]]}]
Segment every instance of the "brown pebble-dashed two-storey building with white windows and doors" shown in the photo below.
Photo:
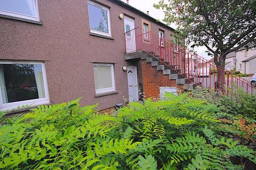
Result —
[{"label": "brown pebble-dashed two-storey building with white windows and doors", "polygon": [[[119,0],[3,0],[0,22],[0,111],[78,97],[106,110],[124,98],[139,100],[138,90],[157,97],[159,87],[186,82],[146,60],[125,60],[134,35],[124,32],[141,27],[150,44],[148,32],[171,40],[174,29]],[[164,41],[159,45],[164,49]]]}]

